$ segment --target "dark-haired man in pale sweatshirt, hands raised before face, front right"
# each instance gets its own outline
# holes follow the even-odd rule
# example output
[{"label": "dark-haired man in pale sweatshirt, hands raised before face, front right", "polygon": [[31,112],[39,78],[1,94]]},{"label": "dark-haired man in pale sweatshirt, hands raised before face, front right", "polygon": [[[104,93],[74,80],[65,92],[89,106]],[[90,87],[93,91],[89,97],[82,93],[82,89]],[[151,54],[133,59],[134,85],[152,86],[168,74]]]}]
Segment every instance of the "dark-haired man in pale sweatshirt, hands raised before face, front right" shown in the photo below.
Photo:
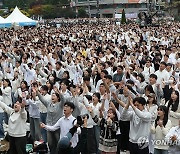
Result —
[{"label": "dark-haired man in pale sweatshirt, hands raised before face, front right", "polygon": [[[130,120],[130,153],[131,154],[149,154],[148,136],[151,127],[152,115],[145,109],[146,100],[143,97],[136,97],[134,100],[129,98],[124,107],[121,119]],[[133,111],[129,110],[131,105]]]}]

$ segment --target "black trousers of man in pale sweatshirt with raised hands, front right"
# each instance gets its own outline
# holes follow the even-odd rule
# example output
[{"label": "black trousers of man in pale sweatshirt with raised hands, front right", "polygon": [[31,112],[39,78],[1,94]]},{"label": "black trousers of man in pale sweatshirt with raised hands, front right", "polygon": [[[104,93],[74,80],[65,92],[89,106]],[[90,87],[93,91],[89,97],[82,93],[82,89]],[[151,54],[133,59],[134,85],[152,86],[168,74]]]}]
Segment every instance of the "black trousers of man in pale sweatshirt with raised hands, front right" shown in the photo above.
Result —
[{"label": "black trousers of man in pale sweatshirt with raised hands, front right", "polygon": [[130,154],[149,154],[148,146],[145,148],[141,148],[137,143],[129,143]]}]

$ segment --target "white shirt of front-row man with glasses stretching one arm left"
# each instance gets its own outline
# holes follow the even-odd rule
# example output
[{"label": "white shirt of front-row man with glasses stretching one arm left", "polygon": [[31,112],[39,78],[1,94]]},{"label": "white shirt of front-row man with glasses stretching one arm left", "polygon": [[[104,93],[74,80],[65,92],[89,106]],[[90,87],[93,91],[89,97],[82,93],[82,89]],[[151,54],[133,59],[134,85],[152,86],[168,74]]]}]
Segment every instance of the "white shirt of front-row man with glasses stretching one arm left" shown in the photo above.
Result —
[{"label": "white shirt of front-row man with glasses stretching one arm left", "polygon": [[[53,126],[46,125],[45,129],[47,129],[48,131],[55,131],[60,128],[61,129],[60,139],[61,139],[74,126],[75,119],[76,118],[73,117],[72,115],[70,115],[67,118],[65,116],[63,116],[56,122],[55,125],[53,125]],[[74,134],[74,136],[72,137],[70,142],[72,143],[73,148],[77,145],[77,143],[78,143],[78,134],[77,133]]]}]

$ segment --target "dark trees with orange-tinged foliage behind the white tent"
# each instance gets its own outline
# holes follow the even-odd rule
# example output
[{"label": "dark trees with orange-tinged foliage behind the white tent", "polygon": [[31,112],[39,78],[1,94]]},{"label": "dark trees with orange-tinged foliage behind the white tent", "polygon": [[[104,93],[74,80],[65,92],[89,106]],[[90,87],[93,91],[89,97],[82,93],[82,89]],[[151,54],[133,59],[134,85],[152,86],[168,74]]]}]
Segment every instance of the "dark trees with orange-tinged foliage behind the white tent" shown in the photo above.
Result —
[{"label": "dark trees with orange-tinged foliage behind the white tent", "polygon": [[[45,19],[51,18],[75,18],[75,8],[70,7],[71,0],[4,0],[4,7],[9,10],[18,6],[25,10],[30,16],[42,16]],[[9,11],[10,12],[10,11]],[[87,17],[86,11],[78,10],[78,17]]]}]

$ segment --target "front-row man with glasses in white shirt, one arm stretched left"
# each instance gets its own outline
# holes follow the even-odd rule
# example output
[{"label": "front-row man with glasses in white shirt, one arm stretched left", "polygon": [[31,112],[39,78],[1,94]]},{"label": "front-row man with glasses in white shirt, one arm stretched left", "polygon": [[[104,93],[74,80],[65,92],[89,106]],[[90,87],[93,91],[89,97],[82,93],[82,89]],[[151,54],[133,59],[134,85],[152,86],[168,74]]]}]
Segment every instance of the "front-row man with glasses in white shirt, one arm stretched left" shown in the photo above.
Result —
[{"label": "front-row man with glasses in white shirt, one arm stretched left", "polygon": [[[74,126],[76,118],[72,116],[72,112],[74,110],[75,106],[71,102],[66,102],[64,104],[64,116],[60,118],[55,125],[53,126],[48,126],[45,125],[44,123],[41,123],[41,127],[45,128],[48,131],[55,131],[57,129],[61,129],[60,133],[60,139],[64,137],[69,130]],[[74,134],[74,136],[70,140],[71,144],[68,148],[63,149],[65,151],[68,151],[68,154],[73,153],[73,148],[77,145],[78,143],[78,134]],[[58,144],[59,145],[59,144]],[[57,147],[57,154],[62,151],[59,147]],[[61,152],[60,152],[61,153]]]}]

